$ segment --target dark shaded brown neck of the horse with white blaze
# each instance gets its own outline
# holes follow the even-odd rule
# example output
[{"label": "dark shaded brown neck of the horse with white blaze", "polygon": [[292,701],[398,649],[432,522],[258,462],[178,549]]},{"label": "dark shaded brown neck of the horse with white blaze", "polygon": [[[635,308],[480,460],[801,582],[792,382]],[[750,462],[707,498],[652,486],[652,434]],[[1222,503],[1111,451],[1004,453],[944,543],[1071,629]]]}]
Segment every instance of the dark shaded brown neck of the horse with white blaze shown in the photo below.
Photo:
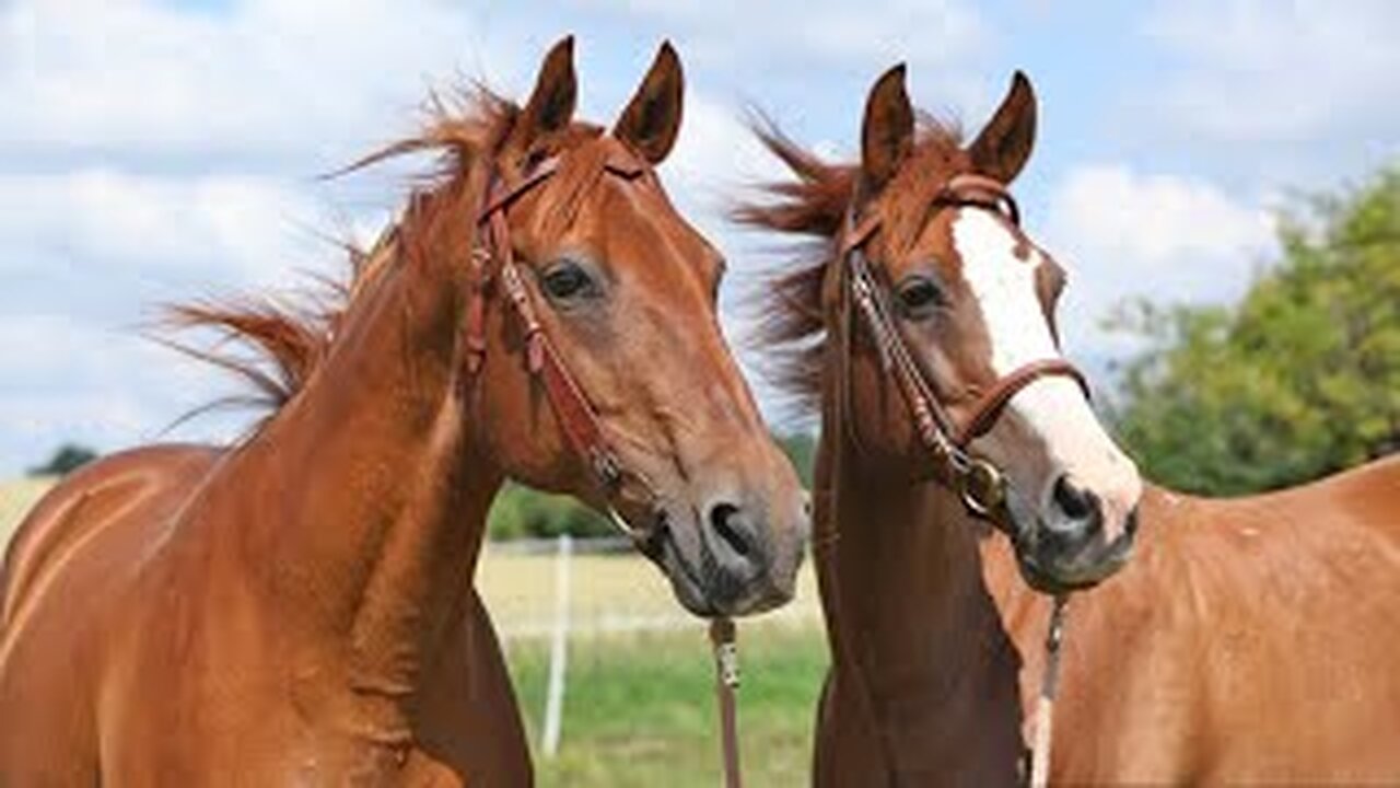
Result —
[{"label": "dark shaded brown neck of the horse with white blaze", "polygon": [[983,578],[990,537],[942,487],[892,475],[823,429],[818,573],[846,687],[834,711],[878,731],[893,773],[1008,782],[1022,752],[1019,659]]}]

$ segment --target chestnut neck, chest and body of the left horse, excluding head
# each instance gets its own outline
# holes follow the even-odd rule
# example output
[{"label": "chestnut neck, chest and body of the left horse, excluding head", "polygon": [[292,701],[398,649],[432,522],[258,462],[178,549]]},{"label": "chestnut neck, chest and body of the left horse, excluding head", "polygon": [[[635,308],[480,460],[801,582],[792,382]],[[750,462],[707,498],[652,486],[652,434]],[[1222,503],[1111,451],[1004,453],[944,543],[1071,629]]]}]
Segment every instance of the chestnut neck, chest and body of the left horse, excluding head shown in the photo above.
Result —
[{"label": "chestnut neck, chest and body of the left horse, excluding head", "polygon": [[[428,327],[452,292],[384,290]],[[319,379],[374,381],[349,397],[314,381],[235,450],[116,456],[41,502],[7,569],[0,718],[32,722],[0,736],[6,782],[529,782],[470,589],[500,471],[434,416],[451,359],[356,331]],[[318,454],[353,461],[293,473]]]}]

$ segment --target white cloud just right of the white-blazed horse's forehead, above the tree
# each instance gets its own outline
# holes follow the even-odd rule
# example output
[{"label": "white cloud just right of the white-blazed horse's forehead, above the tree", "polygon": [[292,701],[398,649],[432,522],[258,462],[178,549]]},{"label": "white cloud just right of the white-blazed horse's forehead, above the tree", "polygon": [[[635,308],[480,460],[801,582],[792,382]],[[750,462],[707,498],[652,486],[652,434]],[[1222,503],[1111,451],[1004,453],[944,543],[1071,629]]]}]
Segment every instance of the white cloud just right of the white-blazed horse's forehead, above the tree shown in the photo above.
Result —
[{"label": "white cloud just right of the white-blazed horse's forehead, above the tree", "polygon": [[1275,252],[1273,213],[1211,182],[1082,165],[1051,191],[1042,241],[1070,271],[1065,339],[1089,355],[1120,346],[1098,322],[1126,297],[1222,301]]}]

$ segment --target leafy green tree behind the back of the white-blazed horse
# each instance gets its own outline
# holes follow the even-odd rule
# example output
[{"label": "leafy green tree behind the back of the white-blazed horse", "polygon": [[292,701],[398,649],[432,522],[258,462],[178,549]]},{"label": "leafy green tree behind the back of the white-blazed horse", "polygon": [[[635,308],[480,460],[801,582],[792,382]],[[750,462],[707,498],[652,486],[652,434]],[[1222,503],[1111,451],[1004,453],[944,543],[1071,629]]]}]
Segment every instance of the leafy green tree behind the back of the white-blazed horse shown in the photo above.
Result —
[{"label": "leafy green tree behind the back of the white-blazed horse", "polygon": [[1282,257],[1235,306],[1123,306],[1147,341],[1113,421],[1154,480],[1301,484],[1400,450],[1400,168],[1280,222]]}]

